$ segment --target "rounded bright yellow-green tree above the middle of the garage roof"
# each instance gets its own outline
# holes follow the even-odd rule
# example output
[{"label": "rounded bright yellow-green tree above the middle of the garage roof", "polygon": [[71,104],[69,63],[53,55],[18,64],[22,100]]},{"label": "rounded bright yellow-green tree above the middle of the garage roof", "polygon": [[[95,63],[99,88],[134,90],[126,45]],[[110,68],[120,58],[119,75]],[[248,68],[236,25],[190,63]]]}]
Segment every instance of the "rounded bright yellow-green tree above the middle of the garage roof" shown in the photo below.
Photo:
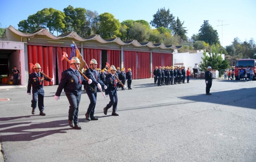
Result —
[{"label": "rounded bright yellow-green tree above the middle of the garage roof", "polygon": [[116,37],[121,34],[119,32],[121,23],[118,19],[114,18],[114,15],[105,12],[104,14],[99,15],[99,20],[99,35],[103,39]]}]

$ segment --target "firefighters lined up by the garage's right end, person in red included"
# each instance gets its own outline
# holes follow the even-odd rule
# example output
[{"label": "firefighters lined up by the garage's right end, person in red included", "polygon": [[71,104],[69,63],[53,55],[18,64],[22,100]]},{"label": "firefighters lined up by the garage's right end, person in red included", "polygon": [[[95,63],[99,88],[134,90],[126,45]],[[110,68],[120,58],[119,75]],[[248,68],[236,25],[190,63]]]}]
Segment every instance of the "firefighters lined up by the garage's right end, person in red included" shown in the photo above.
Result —
[{"label": "firefighters lined up by the garage's right end, person in red included", "polygon": [[[173,66],[156,66],[156,69],[153,72],[154,74],[154,83],[157,86],[161,86],[161,84],[173,85],[173,84],[181,84],[185,83],[186,78],[186,70],[185,66],[173,67]],[[190,70],[187,70],[187,76],[190,76]],[[189,79],[187,79],[187,83],[189,83]]]}]

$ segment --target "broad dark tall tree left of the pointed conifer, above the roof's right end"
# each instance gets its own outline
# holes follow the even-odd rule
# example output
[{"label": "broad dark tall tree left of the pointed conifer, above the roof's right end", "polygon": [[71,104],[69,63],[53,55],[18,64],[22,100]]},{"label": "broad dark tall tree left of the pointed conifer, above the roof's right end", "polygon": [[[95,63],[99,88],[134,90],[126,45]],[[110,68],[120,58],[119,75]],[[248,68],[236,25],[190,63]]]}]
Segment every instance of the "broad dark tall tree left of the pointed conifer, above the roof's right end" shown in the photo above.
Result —
[{"label": "broad dark tall tree left of the pointed conifer, above the roof's right end", "polygon": [[153,20],[150,21],[150,25],[156,28],[169,28],[173,31],[174,19],[175,17],[173,14],[170,14],[169,8],[168,10],[165,10],[165,8],[160,8],[157,10],[156,14],[153,15]]}]

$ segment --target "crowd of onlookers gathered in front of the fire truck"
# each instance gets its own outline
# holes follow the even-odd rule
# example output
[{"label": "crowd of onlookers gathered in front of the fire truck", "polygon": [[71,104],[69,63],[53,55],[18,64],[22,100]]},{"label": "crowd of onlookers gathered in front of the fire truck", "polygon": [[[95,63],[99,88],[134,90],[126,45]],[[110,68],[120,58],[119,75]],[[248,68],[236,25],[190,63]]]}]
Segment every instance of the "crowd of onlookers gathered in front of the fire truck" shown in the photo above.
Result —
[{"label": "crowd of onlookers gathered in front of the fire truck", "polygon": [[226,79],[230,79],[230,80],[235,80],[236,81],[252,81],[253,80],[253,68],[249,68],[248,66],[246,68],[241,68],[241,69],[238,69],[238,68],[235,68],[235,69],[232,69],[231,71],[230,70],[225,70],[224,71],[224,80]]}]

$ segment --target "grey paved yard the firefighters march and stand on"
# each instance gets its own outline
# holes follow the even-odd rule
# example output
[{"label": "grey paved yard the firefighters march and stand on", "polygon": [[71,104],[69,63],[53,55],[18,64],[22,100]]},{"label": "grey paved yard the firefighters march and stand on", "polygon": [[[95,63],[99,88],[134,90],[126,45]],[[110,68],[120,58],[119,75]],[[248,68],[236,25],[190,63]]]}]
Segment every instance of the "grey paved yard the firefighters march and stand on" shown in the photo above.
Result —
[{"label": "grey paved yard the firefighters march and stand on", "polygon": [[118,91],[120,116],[103,114],[109,102],[98,93],[95,116],[87,122],[89,100],[83,92],[82,130],[67,124],[69,104],[45,87],[46,116],[31,115],[26,88],[0,89],[0,141],[5,162],[99,161],[256,161],[256,81],[214,79],[205,83],[157,87],[153,79],[133,80],[132,90]]}]

